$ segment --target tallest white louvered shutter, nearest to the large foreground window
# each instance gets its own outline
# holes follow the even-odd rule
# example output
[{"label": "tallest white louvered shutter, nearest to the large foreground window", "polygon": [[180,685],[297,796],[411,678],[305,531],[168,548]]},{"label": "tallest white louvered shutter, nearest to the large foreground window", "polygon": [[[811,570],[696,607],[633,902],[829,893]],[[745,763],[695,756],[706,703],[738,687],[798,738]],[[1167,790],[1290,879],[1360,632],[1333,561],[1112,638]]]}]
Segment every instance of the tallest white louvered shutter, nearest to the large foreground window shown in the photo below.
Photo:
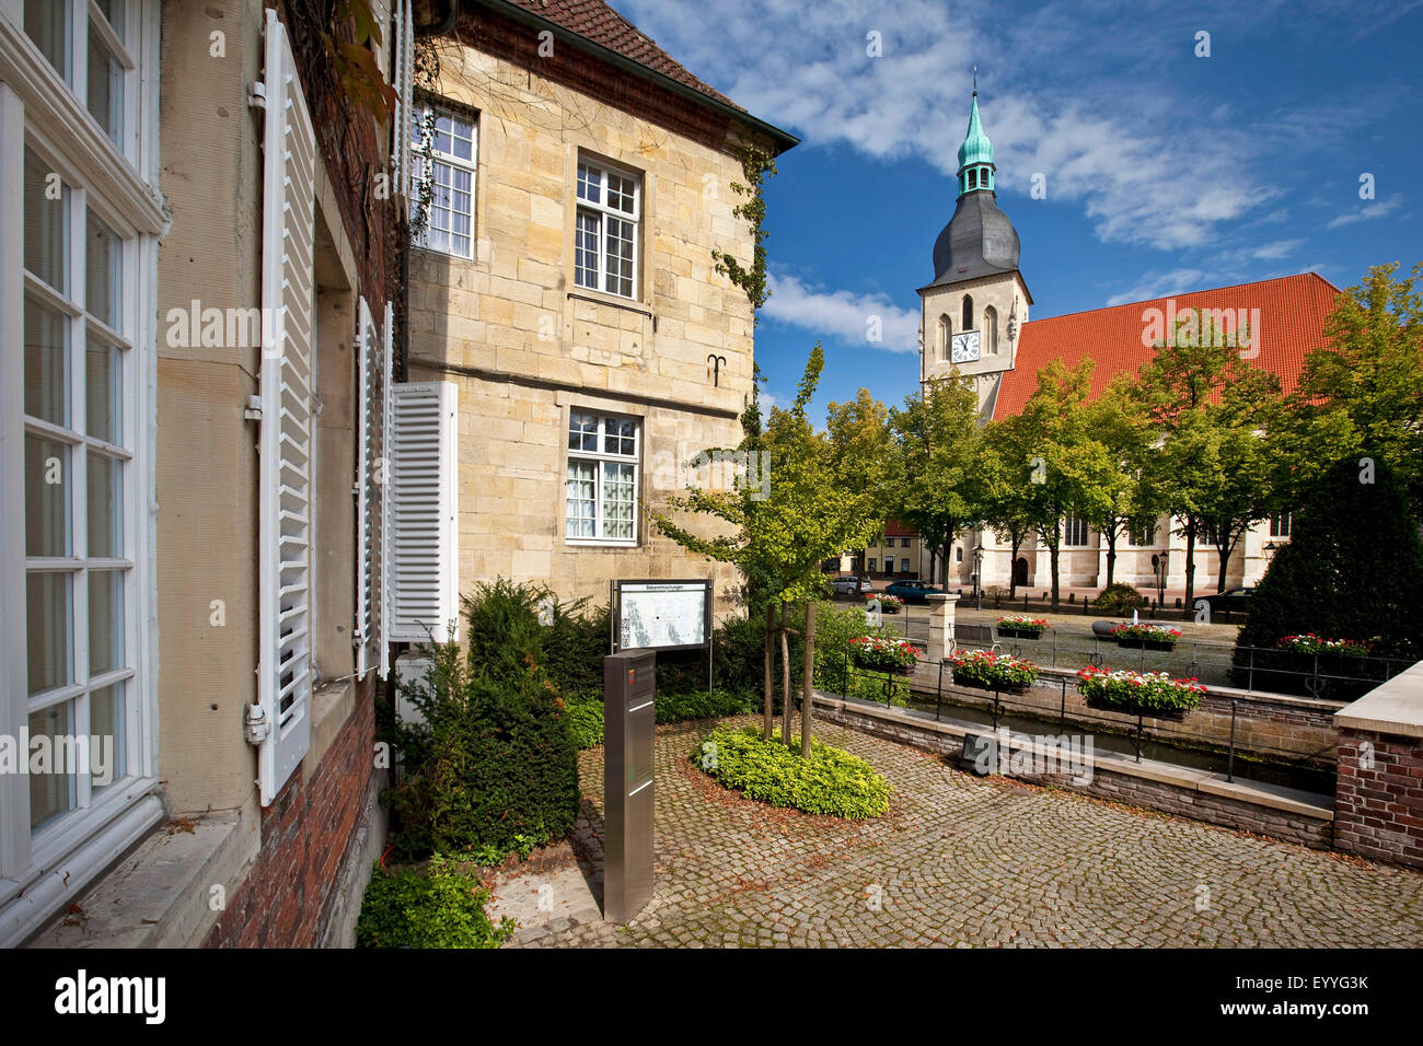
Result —
[{"label": "tallest white louvered shutter, nearest to the large foreground window", "polygon": [[262,196],[262,805],[306,754],[312,712],[312,444],[316,135],[286,31],[268,9]]}]

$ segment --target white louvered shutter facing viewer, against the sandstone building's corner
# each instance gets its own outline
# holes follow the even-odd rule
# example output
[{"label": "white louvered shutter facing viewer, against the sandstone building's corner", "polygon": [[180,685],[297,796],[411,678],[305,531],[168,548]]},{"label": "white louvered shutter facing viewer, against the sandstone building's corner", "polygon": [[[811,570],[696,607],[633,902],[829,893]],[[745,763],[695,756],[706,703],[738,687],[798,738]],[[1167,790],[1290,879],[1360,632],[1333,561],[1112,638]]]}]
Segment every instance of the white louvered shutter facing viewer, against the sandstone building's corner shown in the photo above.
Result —
[{"label": "white louvered shutter facing viewer, against the sandstone building's corner", "polygon": [[391,386],[390,592],[387,639],[460,638],[455,500],[455,386]]}]

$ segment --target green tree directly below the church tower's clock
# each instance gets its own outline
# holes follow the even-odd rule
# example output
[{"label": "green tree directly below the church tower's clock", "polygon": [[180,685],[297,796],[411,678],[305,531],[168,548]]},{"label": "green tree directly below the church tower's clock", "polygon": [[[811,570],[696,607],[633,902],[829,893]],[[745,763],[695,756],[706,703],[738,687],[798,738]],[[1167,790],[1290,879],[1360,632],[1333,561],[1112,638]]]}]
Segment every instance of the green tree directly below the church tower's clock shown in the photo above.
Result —
[{"label": "green tree directly below the church tower's clock", "polygon": [[988,504],[978,394],[955,367],[951,377],[905,397],[902,410],[891,408],[889,428],[898,451],[892,515],[915,527],[946,566],[953,538],[979,522]]}]

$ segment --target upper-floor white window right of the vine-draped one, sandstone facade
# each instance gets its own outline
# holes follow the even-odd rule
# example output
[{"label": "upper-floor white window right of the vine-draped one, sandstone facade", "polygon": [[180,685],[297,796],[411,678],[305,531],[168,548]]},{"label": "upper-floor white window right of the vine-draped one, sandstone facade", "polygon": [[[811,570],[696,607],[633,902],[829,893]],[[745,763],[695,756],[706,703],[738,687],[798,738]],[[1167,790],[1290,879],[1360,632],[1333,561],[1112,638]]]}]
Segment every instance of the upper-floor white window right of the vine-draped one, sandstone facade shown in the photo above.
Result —
[{"label": "upper-floor white window right of the vine-draped one, sandstone facade", "polygon": [[579,161],[573,283],[638,297],[638,221],[642,182],[623,171]]}]

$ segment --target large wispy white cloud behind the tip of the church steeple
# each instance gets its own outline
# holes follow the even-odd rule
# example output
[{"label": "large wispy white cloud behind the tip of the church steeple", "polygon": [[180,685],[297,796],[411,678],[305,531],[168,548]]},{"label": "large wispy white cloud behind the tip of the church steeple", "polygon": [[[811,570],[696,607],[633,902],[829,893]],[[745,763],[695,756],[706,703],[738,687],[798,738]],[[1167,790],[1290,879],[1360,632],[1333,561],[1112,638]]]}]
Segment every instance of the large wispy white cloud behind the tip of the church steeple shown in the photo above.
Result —
[{"label": "large wispy white cloud behind the tip of the church steeple", "polygon": [[[803,148],[845,142],[874,158],[914,157],[946,179],[978,61],[1000,188],[1026,194],[1042,172],[1049,204],[1079,205],[1103,241],[1198,246],[1281,192],[1249,171],[1265,148],[1258,128],[1229,112],[1201,120],[1170,78],[1144,85],[1136,75],[1170,57],[1160,27],[1047,9],[1005,30],[992,6],[768,0],[719,6],[709,31],[702,3],[620,6],[697,75],[801,131]],[[867,56],[869,31],[882,34],[884,57]],[[1114,64],[1131,80],[1103,73]],[[948,206],[951,182],[943,192]]]}]

